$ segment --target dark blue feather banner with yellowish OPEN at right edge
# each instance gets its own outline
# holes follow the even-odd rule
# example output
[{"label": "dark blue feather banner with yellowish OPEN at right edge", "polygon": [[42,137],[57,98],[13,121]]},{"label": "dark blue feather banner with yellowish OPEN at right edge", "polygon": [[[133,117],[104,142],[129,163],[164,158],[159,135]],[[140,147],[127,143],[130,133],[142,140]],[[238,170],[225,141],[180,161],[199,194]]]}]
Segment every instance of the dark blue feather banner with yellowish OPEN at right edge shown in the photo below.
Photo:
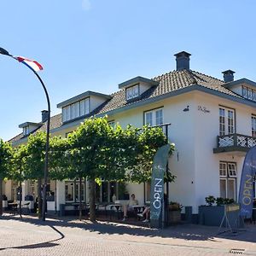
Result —
[{"label": "dark blue feather banner with yellowish OPEN at right edge", "polygon": [[244,159],[239,190],[240,215],[252,218],[253,213],[253,177],[256,174],[256,146],[251,148]]}]

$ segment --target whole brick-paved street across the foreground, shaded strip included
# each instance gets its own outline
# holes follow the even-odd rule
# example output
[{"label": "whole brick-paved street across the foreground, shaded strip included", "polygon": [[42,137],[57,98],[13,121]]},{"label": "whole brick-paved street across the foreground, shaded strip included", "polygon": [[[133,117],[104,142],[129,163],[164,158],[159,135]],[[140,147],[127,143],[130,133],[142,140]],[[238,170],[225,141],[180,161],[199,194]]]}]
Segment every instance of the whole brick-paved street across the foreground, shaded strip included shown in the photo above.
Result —
[{"label": "whole brick-paved street across the foreground, shaded strip included", "polygon": [[[90,223],[5,215],[0,219],[0,255],[256,255],[256,225],[216,236],[218,228],[181,224],[152,230],[128,224]],[[238,253],[238,252],[237,252]]]}]

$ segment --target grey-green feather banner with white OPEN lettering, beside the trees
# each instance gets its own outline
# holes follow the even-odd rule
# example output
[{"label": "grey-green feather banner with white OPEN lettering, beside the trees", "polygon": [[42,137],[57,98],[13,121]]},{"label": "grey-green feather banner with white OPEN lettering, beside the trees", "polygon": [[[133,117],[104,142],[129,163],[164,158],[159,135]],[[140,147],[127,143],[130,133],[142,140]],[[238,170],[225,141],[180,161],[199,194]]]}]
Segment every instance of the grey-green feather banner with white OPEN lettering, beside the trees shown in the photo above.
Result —
[{"label": "grey-green feather banner with white OPEN lettering, beside the trees", "polygon": [[166,144],[159,148],[154,155],[151,193],[150,193],[150,224],[154,228],[159,228],[164,199],[164,175],[166,172],[167,161],[171,145]]}]

